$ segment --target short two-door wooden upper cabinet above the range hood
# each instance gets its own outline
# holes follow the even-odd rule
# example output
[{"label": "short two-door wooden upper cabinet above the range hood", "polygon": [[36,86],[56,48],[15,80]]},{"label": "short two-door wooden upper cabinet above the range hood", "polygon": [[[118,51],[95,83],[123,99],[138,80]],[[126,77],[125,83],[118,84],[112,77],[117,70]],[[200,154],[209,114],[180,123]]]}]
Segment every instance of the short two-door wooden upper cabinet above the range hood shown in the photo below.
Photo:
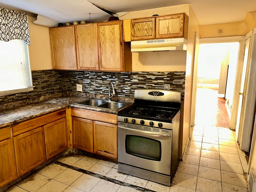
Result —
[{"label": "short two-door wooden upper cabinet above the range hood", "polygon": [[131,40],[188,38],[185,13],[131,20]]}]

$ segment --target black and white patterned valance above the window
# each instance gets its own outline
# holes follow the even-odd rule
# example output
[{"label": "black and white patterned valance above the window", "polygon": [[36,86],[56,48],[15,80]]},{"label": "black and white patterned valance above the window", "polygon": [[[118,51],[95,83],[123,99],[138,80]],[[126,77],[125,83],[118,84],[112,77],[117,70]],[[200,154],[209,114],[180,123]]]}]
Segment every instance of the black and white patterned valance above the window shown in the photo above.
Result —
[{"label": "black and white patterned valance above the window", "polygon": [[13,39],[21,39],[30,44],[27,15],[0,8],[0,40],[10,41]]}]

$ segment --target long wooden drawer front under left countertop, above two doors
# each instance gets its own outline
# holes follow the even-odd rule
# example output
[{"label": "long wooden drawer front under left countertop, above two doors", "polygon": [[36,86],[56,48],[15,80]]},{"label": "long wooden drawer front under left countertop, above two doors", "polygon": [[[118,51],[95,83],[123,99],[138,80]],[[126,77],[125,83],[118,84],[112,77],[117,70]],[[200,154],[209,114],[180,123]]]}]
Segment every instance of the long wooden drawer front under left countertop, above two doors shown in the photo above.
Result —
[{"label": "long wooden drawer front under left countertop, above two doors", "polygon": [[33,118],[30,120],[26,120],[23,122],[20,122],[18,124],[14,124],[12,126],[13,136],[17,136],[19,134],[22,134],[24,132],[28,132],[30,130],[33,130],[34,128],[44,126],[50,122],[54,122],[58,119],[66,117],[66,110],[60,110],[56,112],[52,112],[46,115],[42,115],[37,118]]}]

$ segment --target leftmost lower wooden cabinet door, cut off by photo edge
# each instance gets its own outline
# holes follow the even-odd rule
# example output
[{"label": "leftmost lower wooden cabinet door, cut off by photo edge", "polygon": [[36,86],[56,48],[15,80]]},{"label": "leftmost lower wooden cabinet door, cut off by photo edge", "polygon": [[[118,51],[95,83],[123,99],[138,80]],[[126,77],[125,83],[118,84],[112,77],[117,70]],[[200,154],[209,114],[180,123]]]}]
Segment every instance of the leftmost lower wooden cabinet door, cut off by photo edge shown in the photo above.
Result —
[{"label": "leftmost lower wooden cabinet door, cut off by photo edge", "polygon": [[0,188],[16,178],[14,150],[11,139],[0,142]]}]

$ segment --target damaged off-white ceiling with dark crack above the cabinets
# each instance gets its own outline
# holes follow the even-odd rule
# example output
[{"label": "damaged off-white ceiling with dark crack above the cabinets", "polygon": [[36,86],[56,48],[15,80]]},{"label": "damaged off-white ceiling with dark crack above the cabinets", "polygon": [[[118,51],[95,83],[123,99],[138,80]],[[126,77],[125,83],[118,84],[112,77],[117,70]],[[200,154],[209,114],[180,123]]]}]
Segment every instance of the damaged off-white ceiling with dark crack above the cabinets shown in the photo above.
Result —
[{"label": "damaged off-white ceiling with dark crack above the cabinets", "polygon": [[122,16],[123,12],[187,3],[200,25],[242,21],[248,12],[256,11],[256,0],[0,0],[4,7],[32,12],[57,24],[80,20],[100,22],[108,20],[113,13]]}]

